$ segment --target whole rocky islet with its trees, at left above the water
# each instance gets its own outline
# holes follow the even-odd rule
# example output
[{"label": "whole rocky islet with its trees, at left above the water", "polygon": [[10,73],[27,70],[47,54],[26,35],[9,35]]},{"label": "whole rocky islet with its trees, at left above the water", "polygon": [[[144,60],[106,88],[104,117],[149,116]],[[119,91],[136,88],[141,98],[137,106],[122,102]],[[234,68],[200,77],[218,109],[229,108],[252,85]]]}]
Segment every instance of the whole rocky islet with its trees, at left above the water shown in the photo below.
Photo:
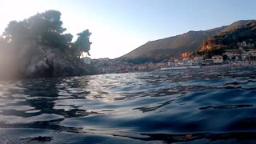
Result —
[{"label": "whole rocky islet with its trees, at left above the water", "polygon": [[65,31],[57,10],[11,21],[0,36],[0,78],[97,74],[80,60],[83,53],[89,54],[90,31],[78,33],[74,42]]}]

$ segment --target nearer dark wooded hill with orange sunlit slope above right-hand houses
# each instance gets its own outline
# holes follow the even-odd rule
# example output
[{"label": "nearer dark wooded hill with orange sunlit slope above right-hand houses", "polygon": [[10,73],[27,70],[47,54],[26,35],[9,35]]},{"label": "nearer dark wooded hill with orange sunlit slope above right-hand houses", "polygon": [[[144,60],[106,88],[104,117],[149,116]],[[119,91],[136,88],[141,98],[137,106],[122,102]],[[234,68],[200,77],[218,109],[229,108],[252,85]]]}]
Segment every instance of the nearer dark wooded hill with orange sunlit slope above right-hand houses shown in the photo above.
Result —
[{"label": "nearer dark wooded hill with orange sunlit slope above right-hand houses", "polygon": [[254,48],[256,45],[256,20],[234,22],[222,32],[206,38],[199,51],[217,54],[223,50]]}]

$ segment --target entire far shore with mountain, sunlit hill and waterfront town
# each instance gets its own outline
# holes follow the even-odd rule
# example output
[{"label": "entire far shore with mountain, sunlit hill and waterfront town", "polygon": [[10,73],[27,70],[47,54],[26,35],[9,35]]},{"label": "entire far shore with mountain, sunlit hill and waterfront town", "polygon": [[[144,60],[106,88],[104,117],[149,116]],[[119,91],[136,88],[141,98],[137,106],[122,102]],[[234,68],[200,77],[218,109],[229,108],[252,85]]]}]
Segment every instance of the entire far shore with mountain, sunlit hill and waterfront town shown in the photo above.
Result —
[{"label": "entire far shore with mountain, sunlit hill and waterfront town", "polygon": [[[171,66],[246,66],[256,59],[256,21],[146,42],[120,58],[91,61],[102,74],[159,70]],[[188,51],[188,52],[186,52]]]}]

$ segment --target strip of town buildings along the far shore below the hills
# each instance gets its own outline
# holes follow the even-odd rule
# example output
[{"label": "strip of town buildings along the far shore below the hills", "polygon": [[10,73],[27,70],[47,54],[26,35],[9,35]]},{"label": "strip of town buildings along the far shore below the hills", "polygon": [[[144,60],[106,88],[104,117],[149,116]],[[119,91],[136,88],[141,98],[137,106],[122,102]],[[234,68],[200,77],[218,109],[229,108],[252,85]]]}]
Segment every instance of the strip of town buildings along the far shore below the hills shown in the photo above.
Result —
[{"label": "strip of town buildings along the far shore below the hills", "polygon": [[[245,49],[246,48],[246,49]],[[93,64],[101,74],[127,73],[138,71],[159,70],[168,66],[246,66],[256,64],[254,45],[246,42],[238,43],[236,50],[224,50],[222,55],[205,58],[203,55],[192,56],[190,52],[183,53],[179,58],[166,58],[162,62],[146,62],[134,64],[110,58],[83,58],[86,64]]]}]

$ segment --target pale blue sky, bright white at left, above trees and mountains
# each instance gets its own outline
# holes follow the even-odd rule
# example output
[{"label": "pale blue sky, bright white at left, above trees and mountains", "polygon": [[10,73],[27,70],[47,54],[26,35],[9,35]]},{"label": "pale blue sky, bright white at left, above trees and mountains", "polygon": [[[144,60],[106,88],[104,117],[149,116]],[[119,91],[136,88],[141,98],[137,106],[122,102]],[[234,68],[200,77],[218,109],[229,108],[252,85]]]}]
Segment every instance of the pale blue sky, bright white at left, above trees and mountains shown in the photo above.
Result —
[{"label": "pale blue sky, bright white at left, above trees and mountains", "polygon": [[59,10],[66,33],[90,30],[91,58],[118,58],[149,41],[255,19],[255,6],[254,0],[0,0],[0,34],[12,20]]}]

